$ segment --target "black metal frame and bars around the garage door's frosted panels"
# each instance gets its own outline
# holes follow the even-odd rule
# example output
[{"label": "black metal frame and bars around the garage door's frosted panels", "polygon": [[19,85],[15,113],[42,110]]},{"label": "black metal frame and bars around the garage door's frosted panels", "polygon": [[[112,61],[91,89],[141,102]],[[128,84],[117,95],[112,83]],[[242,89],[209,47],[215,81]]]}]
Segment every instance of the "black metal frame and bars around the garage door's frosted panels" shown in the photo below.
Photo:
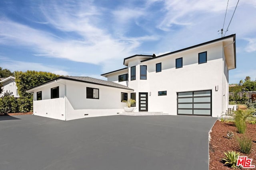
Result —
[{"label": "black metal frame and bars around the garage door's frosted panels", "polygon": [[[204,92],[204,91],[210,91],[210,96],[194,96],[194,92]],[[179,93],[191,93],[192,92],[192,96],[190,97],[179,97],[178,94]],[[177,96],[177,115],[195,115],[195,116],[212,116],[212,90],[197,90],[197,91],[187,91],[187,92],[177,92],[176,93]],[[210,102],[194,102],[194,98],[204,98],[204,97],[210,97]],[[183,99],[188,99],[188,98],[192,98],[192,102],[178,102],[180,98]],[[178,105],[179,104],[192,104],[192,108],[179,108]],[[194,108],[194,104],[210,104],[210,109],[206,109],[206,108]],[[179,109],[185,109],[185,110],[192,110],[192,114],[186,114],[186,113],[179,113]],[[207,114],[194,114],[194,110],[210,110],[210,115]]]}]

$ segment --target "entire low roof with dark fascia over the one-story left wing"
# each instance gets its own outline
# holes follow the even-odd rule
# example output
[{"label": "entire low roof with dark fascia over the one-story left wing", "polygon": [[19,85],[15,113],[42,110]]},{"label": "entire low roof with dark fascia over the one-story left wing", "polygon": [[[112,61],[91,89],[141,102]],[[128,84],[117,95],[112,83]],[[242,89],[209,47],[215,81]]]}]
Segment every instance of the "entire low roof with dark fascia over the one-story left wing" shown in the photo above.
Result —
[{"label": "entire low roof with dark fascia over the one-story left wing", "polygon": [[98,84],[98,85],[102,85],[102,86],[109,86],[109,87],[114,87],[114,88],[122,88],[122,89],[126,89],[126,90],[133,90],[131,88],[128,88],[127,86],[124,86],[124,85],[121,85],[121,84],[118,84],[118,83],[115,83],[115,82],[100,80],[100,79],[92,78],[92,77],[75,77],[75,76],[74,77],[73,76],[64,77],[64,76],[60,76],[60,77],[54,78],[52,80],[49,80],[48,82],[44,82],[42,84],[34,86],[34,87],[28,89],[27,91],[33,90],[34,88],[37,88],[39,86],[42,86],[44,84],[53,82],[53,81],[58,80],[58,79],[72,80],[72,81],[85,82],[85,83],[90,83],[90,84]]}]

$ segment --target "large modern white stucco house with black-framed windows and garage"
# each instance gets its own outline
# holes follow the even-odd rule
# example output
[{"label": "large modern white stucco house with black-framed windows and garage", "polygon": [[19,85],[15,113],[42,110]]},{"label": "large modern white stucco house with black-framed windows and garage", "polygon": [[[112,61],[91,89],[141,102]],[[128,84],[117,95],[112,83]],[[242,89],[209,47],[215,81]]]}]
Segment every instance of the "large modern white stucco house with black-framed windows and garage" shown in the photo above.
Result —
[{"label": "large modern white stucco house with black-framed windows and garage", "polygon": [[220,117],[228,110],[228,71],[236,68],[236,35],[164,55],[134,55],[125,68],[89,77],[58,77],[28,89],[34,114],[71,120],[124,112]]}]

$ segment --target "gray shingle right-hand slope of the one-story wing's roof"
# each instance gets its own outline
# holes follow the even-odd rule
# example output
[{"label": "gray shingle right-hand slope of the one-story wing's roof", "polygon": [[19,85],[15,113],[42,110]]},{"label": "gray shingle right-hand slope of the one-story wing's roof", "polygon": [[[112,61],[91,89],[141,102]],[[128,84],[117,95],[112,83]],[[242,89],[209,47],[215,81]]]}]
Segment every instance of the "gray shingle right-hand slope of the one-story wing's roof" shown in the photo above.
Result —
[{"label": "gray shingle right-hand slope of the one-story wing's roof", "polygon": [[[63,78],[63,77],[60,77]],[[65,79],[65,78],[64,78]],[[123,88],[123,89],[127,89],[127,90],[133,90],[131,88],[128,88],[127,86],[115,83],[115,82],[110,82],[110,81],[106,81],[106,80],[100,80],[97,78],[92,78],[92,77],[76,77],[76,76],[67,76],[66,79],[70,79],[70,80],[78,80],[81,82],[88,82],[88,83],[92,83],[92,84],[99,84],[99,85],[103,85],[103,86],[111,86],[111,87],[116,87],[116,88]]]}]

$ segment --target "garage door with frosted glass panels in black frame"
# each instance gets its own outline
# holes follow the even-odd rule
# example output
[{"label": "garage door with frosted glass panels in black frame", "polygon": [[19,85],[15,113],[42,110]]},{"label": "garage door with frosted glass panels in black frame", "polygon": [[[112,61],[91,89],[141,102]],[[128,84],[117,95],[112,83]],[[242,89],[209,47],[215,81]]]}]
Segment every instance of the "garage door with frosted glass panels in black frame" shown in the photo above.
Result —
[{"label": "garage door with frosted glass panels in black frame", "polygon": [[178,115],[212,115],[212,90],[178,92]]}]

